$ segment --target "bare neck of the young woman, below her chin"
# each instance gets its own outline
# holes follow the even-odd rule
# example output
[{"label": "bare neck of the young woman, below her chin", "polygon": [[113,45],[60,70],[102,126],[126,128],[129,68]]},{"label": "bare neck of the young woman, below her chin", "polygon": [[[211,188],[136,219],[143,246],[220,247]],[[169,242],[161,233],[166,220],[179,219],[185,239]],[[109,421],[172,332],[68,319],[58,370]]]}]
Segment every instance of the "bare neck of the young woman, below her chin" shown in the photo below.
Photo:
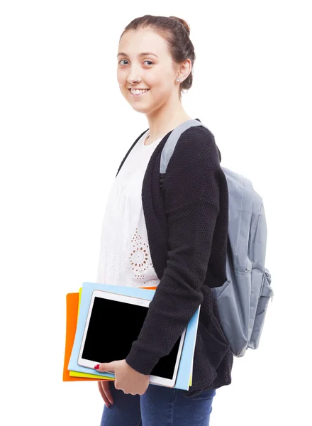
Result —
[{"label": "bare neck of the young woman, below her chin", "polygon": [[182,103],[179,100],[178,102],[174,101],[174,99],[168,99],[165,104],[162,104],[160,109],[145,115],[150,129],[149,141],[156,141],[179,126],[179,124],[186,120],[191,120],[191,117],[184,111]]}]

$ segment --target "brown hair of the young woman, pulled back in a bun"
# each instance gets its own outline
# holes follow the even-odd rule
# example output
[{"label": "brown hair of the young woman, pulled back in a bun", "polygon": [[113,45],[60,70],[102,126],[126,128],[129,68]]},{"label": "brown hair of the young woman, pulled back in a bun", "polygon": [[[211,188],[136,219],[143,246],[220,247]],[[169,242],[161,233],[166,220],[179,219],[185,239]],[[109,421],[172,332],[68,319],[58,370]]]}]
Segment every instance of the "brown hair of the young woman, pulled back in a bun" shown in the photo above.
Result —
[{"label": "brown hair of the young woman, pulled back in a bun", "polygon": [[[191,72],[189,76],[179,84],[179,99],[181,93],[188,90],[193,82],[193,66],[196,59],[193,43],[189,38],[189,24],[177,16],[153,16],[144,15],[135,18],[124,29],[121,37],[126,31],[137,30],[140,28],[151,28],[167,40],[169,53],[172,56],[174,70],[177,65],[182,64],[186,59],[191,60]],[[119,39],[119,41],[121,38]]]}]

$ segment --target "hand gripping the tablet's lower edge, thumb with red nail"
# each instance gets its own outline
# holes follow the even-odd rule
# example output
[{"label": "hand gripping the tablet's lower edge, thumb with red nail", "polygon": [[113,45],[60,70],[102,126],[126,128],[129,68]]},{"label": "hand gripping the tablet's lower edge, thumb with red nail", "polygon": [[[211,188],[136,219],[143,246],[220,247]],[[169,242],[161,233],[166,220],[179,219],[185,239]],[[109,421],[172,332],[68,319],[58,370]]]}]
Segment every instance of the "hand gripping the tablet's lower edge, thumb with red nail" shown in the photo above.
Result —
[{"label": "hand gripping the tablet's lower edge, thumb with red nail", "polygon": [[130,367],[126,359],[103,362],[94,366],[97,371],[115,373],[115,388],[131,395],[143,395],[150,384],[150,375]]}]

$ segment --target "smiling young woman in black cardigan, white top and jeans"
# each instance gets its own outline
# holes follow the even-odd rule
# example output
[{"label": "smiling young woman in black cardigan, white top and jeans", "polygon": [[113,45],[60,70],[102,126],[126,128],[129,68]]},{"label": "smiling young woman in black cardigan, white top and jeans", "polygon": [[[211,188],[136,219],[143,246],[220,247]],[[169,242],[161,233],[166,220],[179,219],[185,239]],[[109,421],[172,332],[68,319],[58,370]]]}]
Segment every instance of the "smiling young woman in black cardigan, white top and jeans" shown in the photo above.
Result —
[{"label": "smiling young woman in black cardigan, white top and jeans", "polygon": [[[101,426],[207,426],[216,389],[231,383],[233,365],[211,291],[226,280],[228,239],[228,187],[213,133],[204,126],[184,131],[160,179],[169,134],[191,119],[181,103],[195,60],[189,26],[174,16],[136,18],[121,35],[117,58],[121,93],[149,129],[113,182],[97,282],[156,291],[126,359],[95,367],[115,373],[115,381],[97,382],[106,403]],[[199,305],[189,391],[149,385],[152,368]]]}]

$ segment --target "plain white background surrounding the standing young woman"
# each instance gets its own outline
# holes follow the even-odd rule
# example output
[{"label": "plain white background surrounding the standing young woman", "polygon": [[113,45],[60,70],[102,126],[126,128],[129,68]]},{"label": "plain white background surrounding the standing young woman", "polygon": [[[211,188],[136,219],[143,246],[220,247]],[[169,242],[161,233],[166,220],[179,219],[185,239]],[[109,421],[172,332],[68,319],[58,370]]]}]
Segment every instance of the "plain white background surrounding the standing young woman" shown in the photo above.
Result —
[{"label": "plain white background surrounding the standing young woman", "polygon": [[1,1],[1,425],[99,425],[96,383],[62,382],[65,297],[96,281],[108,191],[148,128],[116,80],[118,39],[146,13],[191,26],[184,109],[267,217],[273,302],[211,425],[310,425],[311,4],[146,4]]}]

